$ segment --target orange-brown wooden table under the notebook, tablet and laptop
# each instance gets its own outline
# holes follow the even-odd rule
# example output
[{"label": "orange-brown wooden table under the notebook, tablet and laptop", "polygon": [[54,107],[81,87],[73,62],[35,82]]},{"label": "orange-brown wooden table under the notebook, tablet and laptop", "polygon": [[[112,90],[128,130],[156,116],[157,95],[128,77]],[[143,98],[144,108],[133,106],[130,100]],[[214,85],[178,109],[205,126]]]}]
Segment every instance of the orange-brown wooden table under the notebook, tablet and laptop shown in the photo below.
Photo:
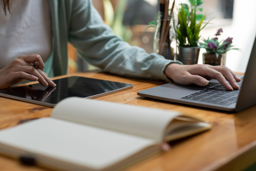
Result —
[{"label": "orange-brown wooden table under the notebook, tablet and laptop", "polygon": [[[210,131],[170,143],[172,150],[128,168],[128,171],[241,171],[256,162],[256,106],[239,113],[175,104],[137,95],[137,91],[166,84],[121,77],[101,72],[76,73],[110,81],[134,84],[134,88],[106,95],[96,100],[175,110],[208,120]],[[55,77],[61,78],[66,76]],[[0,98],[0,129],[15,126],[29,119],[47,117],[52,108],[9,98]],[[23,166],[16,160],[0,156],[0,171],[46,171],[36,166]]]}]

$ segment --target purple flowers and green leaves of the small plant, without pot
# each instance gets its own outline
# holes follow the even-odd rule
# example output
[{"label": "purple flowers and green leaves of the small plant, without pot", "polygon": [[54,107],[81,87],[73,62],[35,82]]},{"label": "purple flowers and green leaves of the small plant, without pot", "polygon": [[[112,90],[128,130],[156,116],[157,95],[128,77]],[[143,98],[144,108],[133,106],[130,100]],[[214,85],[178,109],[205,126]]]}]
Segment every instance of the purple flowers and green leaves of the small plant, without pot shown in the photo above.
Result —
[{"label": "purple flowers and green leaves of the small plant, without pot", "polygon": [[239,48],[233,48],[234,46],[232,45],[233,43],[233,38],[228,37],[224,41],[221,40],[220,42],[218,41],[218,36],[223,33],[222,28],[219,28],[217,33],[215,34],[215,38],[213,39],[204,39],[204,43],[200,42],[201,48],[206,49],[206,53],[215,53],[217,59],[219,54],[221,53],[226,53],[229,50],[239,50]]}]

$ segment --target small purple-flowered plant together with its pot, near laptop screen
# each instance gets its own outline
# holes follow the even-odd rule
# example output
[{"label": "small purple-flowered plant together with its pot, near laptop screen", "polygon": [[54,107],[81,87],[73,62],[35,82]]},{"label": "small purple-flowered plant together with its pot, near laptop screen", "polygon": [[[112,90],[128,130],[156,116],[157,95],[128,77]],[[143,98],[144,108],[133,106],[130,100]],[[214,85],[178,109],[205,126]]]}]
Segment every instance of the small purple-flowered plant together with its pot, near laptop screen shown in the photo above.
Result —
[{"label": "small purple-flowered plant together with its pot, near laptop screen", "polygon": [[233,48],[233,38],[228,37],[224,41],[218,41],[218,36],[223,33],[222,28],[219,28],[213,39],[204,39],[204,43],[200,42],[201,48],[206,49],[206,53],[203,54],[203,64],[209,64],[213,66],[226,65],[227,51],[240,50]]}]

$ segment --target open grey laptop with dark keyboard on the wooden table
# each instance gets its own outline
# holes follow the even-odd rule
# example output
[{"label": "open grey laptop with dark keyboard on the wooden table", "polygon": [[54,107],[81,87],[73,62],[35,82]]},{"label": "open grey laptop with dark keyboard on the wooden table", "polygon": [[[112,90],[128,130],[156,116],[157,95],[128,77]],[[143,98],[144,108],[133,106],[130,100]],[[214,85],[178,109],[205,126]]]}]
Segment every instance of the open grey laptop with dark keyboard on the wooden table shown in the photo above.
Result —
[{"label": "open grey laptop with dark keyboard on the wooden table", "polygon": [[207,107],[225,111],[239,112],[256,104],[256,39],[244,76],[239,76],[240,89],[227,91],[217,80],[209,81],[207,86],[191,84],[184,86],[176,83],[165,84],[137,92],[137,95]]}]

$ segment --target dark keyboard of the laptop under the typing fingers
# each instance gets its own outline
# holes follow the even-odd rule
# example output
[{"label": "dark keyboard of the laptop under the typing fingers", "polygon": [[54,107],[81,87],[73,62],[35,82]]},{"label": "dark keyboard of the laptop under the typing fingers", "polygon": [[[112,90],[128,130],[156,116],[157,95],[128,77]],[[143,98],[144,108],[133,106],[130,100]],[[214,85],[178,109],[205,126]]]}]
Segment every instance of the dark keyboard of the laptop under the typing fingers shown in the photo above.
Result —
[{"label": "dark keyboard of the laptop under the typing fingers", "polygon": [[[243,79],[237,83],[239,87],[241,87],[242,82]],[[239,92],[240,89],[227,91],[223,85],[219,84],[215,87],[210,87],[197,93],[186,95],[185,97],[181,97],[181,99],[229,106],[230,104],[236,103]]]}]

